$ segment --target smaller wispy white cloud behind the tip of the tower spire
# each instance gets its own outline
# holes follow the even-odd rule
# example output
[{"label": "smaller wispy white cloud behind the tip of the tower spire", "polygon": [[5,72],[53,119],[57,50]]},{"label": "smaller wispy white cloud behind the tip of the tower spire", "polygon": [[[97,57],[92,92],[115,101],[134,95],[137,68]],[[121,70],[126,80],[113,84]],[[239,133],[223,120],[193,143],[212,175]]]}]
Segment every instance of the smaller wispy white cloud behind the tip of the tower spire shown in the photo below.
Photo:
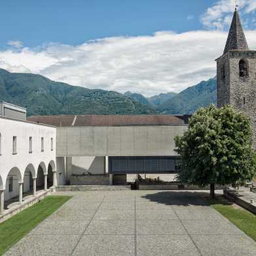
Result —
[{"label": "smaller wispy white cloud behind the tip of the tower spire", "polygon": [[[202,24],[208,29],[227,29],[231,24],[232,13],[234,12],[235,0],[218,0],[209,7],[201,17]],[[238,0],[238,8],[242,17],[255,12],[255,0]]]}]

